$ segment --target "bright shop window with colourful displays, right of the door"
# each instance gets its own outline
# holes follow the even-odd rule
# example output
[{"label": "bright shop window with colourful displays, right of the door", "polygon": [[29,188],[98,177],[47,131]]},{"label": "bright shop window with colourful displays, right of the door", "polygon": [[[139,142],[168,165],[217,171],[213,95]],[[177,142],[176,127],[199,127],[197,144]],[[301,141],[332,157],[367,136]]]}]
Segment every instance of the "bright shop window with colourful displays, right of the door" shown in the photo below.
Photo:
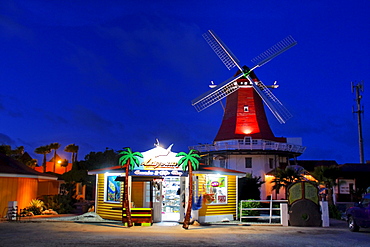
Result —
[{"label": "bright shop window with colourful displays, right of the door", "polygon": [[227,176],[206,175],[205,187],[207,204],[227,204]]}]

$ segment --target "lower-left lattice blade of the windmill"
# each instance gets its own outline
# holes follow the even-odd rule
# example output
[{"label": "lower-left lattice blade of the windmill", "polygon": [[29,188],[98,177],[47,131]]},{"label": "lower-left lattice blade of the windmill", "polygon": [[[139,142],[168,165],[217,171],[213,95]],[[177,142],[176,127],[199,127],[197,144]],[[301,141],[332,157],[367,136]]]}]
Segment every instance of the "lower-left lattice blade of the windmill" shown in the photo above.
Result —
[{"label": "lower-left lattice blade of the windmill", "polygon": [[193,99],[191,101],[191,104],[198,112],[203,111],[207,107],[219,102],[229,94],[232,94],[233,92],[238,90],[239,85],[235,81],[243,76],[244,74],[241,73],[237,77],[229,78],[220,85],[217,85],[217,87],[213,88],[212,90],[209,90],[198,98]]}]

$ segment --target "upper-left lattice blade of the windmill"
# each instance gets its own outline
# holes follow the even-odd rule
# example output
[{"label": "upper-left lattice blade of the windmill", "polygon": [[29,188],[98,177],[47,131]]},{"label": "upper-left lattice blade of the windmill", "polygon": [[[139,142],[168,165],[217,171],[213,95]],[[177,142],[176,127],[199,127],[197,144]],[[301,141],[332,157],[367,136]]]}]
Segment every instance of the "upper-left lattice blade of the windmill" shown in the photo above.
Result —
[{"label": "upper-left lattice blade of the windmill", "polygon": [[222,42],[222,40],[216,35],[215,32],[213,32],[212,30],[208,30],[207,33],[203,34],[203,38],[207,41],[212,50],[225,64],[228,70],[231,70],[232,68],[237,66],[242,71],[242,68],[239,65],[239,60],[224,44],[224,42]]}]

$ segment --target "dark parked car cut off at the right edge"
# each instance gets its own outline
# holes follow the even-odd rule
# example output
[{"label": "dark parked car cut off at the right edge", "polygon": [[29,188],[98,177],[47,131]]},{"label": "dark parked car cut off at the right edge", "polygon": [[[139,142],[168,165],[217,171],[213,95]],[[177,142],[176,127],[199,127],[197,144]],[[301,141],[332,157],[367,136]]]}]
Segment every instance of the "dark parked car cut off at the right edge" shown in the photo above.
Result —
[{"label": "dark parked car cut off at the right edge", "polygon": [[363,196],[361,202],[355,203],[346,211],[348,228],[358,232],[360,227],[370,227],[370,193]]}]

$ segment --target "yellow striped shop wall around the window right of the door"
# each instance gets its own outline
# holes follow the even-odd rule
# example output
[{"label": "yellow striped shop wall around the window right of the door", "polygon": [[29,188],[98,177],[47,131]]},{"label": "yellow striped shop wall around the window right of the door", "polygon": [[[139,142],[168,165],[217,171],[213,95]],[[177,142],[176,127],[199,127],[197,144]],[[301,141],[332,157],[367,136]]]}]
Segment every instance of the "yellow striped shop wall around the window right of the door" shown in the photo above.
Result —
[{"label": "yellow striped shop wall around the window right of the door", "polygon": [[[206,183],[206,175],[205,174],[198,174],[198,190],[199,195],[203,195],[205,193],[204,184]],[[236,217],[236,177],[235,176],[227,176],[227,204],[220,204],[220,205],[210,205],[204,203],[203,206],[199,210],[199,216],[210,216],[210,215],[225,215],[225,214],[232,214],[234,218]]]}]

